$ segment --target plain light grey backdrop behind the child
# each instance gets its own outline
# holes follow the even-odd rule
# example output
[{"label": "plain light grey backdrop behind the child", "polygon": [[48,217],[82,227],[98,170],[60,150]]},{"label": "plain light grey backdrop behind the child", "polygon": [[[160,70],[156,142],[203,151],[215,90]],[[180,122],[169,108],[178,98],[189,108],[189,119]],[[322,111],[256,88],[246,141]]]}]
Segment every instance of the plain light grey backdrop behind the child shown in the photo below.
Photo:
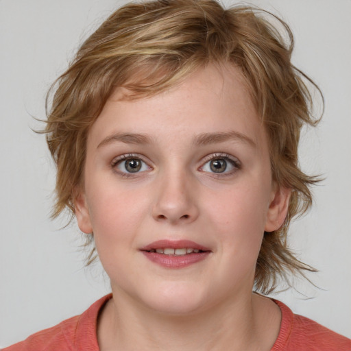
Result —
[{"label": "plain light grey backdrop behind the child", "polygon": [[[224,1],[226,4],[234,1]],[[0,347],[80,314],[109,291],[99,265],[84,269],[82,235],[51,221],[55,168],[43,128],[45,94],[79,43],[114,0],[0,0]],[[253,0],[282,16],[295,34],[293,62],[322,88],[324,119],[300,147],[313,189],[313,210],[297,221],[290,243],[319,269],[315,288],[275,298],[295,313],[351,337],[351,1]]]}]

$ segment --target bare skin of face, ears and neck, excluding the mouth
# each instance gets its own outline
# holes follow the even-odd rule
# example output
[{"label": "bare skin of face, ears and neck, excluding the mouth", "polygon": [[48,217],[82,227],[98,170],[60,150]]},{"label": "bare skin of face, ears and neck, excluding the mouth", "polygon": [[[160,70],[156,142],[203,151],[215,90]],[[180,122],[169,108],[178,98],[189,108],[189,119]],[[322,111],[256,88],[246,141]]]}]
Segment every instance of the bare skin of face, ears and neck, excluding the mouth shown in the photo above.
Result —
[{"label": "bare skin of face, ears and neck, excluding the mouth", "polygon": [[[111,281],[101,350],[269,350],[280,310],[252,293],[254,271],[290,191],[272,182],[267,135],[241,74],[210,65],[165,93],[126,93],[112,94],[88,134],[75,200]],[[140,171],[128,173],[123,157]],[[213,172],[213,160],[227,168]],[[195,241],[210,254],[162,267],[141,252],[161,239]]]}]

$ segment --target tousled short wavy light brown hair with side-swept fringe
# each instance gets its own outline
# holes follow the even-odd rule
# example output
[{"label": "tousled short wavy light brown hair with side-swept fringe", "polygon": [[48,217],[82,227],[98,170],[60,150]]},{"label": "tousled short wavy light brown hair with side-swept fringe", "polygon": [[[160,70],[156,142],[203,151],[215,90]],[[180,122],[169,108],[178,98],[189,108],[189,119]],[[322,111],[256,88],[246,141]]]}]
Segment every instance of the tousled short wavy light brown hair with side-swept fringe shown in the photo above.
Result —
[{"label": "tousled short wavy light brown hair with side-swept fringe", "polygon": [[[45,132],[57,165],[53,217],[65,208],[74,217],[87,135],[115,88],[128,88],[133,98],[155,95],[207,64],[232,64],[247,82],[267,130],[272,177],[292,191],[285,223],[265,232],[255,289],[269,293],[280,278],[306,276],[314,269],[291,253],[287,230],[291,219],[312,203],[309,187],[317,178],[300,169],[298,143],[302,125],[318,121],[311,112],[311,88],[322,93],[291,64],[292,50],[288,25],[252,7],[226,9],[215,0],[158,0],[119,8],[85,40],[47,95]],[[93,236],[88,237],[91,241]],[[94,255],[90,252],[90,261]]]}]

